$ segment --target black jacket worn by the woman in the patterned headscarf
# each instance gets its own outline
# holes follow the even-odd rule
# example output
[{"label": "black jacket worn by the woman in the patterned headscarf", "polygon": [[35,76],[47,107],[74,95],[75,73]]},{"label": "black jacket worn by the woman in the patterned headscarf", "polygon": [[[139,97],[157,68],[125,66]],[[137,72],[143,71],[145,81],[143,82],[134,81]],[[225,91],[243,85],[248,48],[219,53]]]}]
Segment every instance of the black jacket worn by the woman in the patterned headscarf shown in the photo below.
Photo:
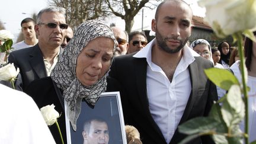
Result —
[{"label": "black jacket worn by the woman in the patterned headscarf", "polygon": [[[117,84],[114,79],[107,78],[107,83],[109,83],[111,86],[114,86],[113,88],[107,88],[110,89],[110,91],[114,91],[115,88],[119,88],[119,84]],[[58,119],[58,123],[62,132],[64,143],[67,143],[65,109],[64,100],[62,97],[63,91],[57,88],[57,85],[55,84],[55,82],[52,81],[52,78],[50,78],[50,76],[47,76],[45,78],[36,79],[31,82],[24,90],[24,92],[33,98],[39,108],[44,107],[48,104],[55,105],[55,110],[61,113],[61,116]],[[49,129],[55,139],[55,142],[61,143],[56,124],[50,126]]]}]

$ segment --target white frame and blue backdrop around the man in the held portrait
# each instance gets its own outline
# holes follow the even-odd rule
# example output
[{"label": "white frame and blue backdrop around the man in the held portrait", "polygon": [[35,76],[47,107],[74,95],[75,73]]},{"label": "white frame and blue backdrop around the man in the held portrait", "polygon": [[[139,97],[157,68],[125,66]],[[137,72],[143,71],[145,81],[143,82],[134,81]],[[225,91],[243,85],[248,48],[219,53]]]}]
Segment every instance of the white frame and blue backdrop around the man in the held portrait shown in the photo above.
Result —
[{"label": "white frame and blue backdrop around the man in the held portrait", "polygon": [[66,114],[65,120],[67,143],[83,143],[82,141],[84,138],[81,131],[84,129],[84,121],[99,118],[107,123],[109,133],[108,143],[127,143],[123,109],[121,107],[121,98],[119,92],[103,92],[94,107],[90,107],[86,101],[82,101],[81,114],[79,115],[76,123],[76,132],[72,129],[71,123],[69,122]]}]

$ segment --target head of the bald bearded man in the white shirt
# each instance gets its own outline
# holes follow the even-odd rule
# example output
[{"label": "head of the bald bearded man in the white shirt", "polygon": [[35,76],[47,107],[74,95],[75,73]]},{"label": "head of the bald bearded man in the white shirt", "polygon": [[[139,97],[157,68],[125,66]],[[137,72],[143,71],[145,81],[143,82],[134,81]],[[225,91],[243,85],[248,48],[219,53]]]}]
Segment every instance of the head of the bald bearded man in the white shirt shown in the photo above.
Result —
[{"label": "head of the bald bearded man in the white shirt", "polygon": [[152,20],[156,44],[167,53],[177,53],[191,35],[191,9],[185,4],[167,1],[159,9],[157,20]]}]

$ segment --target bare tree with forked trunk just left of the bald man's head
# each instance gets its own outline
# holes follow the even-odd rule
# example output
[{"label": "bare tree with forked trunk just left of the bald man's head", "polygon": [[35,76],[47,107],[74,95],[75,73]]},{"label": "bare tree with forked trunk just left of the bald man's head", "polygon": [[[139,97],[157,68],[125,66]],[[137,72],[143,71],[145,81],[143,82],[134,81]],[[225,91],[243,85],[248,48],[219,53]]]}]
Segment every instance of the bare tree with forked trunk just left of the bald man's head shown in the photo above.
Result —
[{"label": "bare tree with forked trunk just left of the bald man's head", "polygon": [[111,13],[123,19],[125,30],[130,33],[134,24],[134,17],[143,7],[154,9],[156,2],[161,0],[104,0]]}]

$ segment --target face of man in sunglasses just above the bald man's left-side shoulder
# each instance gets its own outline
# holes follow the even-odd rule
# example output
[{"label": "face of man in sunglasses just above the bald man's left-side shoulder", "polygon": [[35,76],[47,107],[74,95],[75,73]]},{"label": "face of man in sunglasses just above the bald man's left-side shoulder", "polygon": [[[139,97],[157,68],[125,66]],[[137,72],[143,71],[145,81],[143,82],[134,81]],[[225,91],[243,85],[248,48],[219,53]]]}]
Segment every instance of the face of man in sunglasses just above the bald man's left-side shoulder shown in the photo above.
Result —
[{"label": "face of man in sunglasses just above the bald man's left-side shoulder", "polygon": [[147,43],[148,41],[144,36],[141,34],[136,34],[133,36],[132,40],[130,40],[128,51],[129,53],[137,52],[145,47]]}]

